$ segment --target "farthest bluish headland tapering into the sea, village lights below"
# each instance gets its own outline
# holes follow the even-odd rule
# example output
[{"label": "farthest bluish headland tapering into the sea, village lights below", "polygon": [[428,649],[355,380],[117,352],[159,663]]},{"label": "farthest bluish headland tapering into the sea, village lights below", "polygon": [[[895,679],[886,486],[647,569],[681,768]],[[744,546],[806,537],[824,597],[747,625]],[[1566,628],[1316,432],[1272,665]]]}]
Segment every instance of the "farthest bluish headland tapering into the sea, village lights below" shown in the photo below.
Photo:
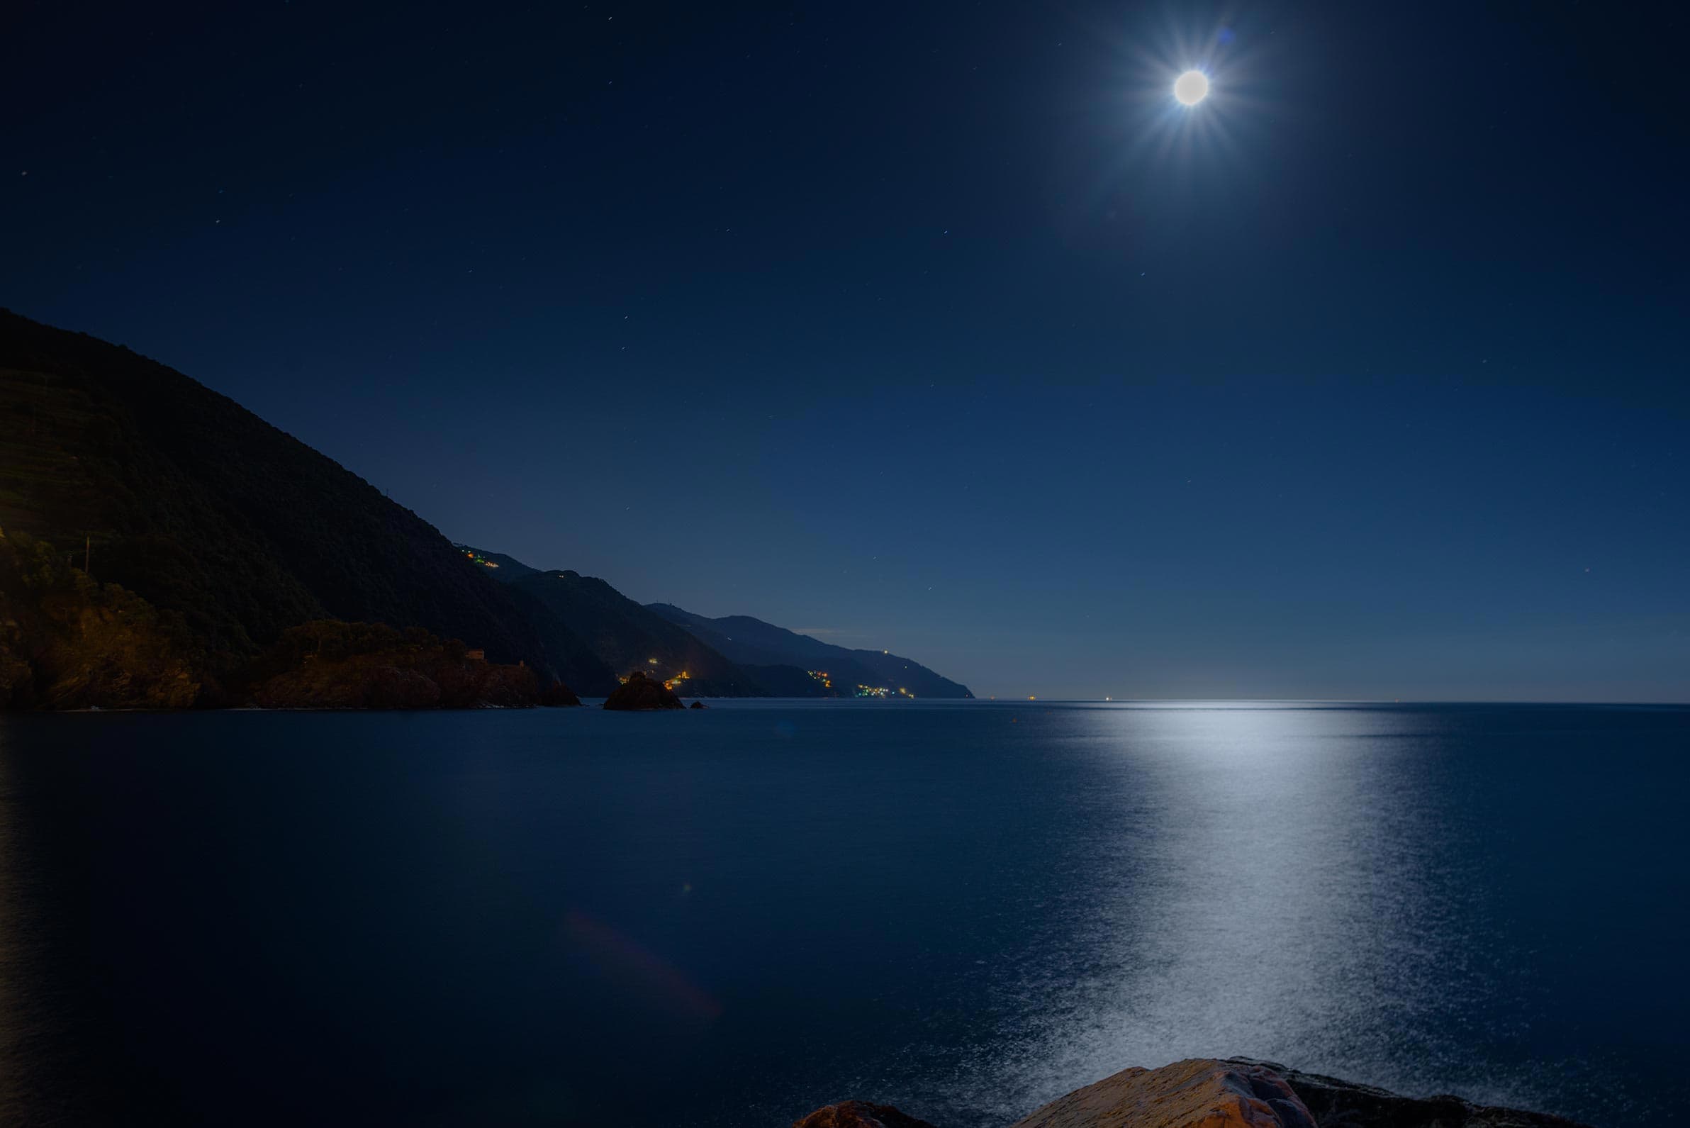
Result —
[{"label": "farthest bluish headland tapering into the sea, village lights below", "polygon": [[[683,626],[742,666],[782,666],[825,671],[831,687],[815,695],[837,697],[973,697],[967,685],[943,678],[918,661],[880,649],[847,649],[777,627],[750,616],[710,619],[674,604],[647,604],[647,611]],[[766,680],[776,675],[766,673]],[[782,678],[793,683],[791,678]],[[796,685],[796,683],[793,683]]]}]

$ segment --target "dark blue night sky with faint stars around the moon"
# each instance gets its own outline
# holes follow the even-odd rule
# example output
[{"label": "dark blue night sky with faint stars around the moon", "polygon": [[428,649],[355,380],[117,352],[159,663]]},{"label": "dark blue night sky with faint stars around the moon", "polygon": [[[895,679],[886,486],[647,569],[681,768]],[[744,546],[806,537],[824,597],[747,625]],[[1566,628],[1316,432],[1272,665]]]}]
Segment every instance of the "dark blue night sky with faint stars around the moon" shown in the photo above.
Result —
[{"label": "dark blue night sky with faint stars around the moon", "polygon": [[0,304],[982,695],[1690,697],[1682,8],[350,7],[14,5]]}]

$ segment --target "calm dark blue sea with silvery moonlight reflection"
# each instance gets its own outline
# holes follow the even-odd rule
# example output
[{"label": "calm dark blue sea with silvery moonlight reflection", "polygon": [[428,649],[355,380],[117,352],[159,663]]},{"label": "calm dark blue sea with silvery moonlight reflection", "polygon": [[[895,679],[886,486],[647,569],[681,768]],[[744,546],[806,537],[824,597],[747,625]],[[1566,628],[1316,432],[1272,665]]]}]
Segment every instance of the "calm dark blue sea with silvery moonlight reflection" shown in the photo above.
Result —
[{"label": "calm dark blue sea with silvery moonlight reflection", "polygon": [[1004,1125],[1247,1054],[1685,1123],[1690,710],[0,719],[0,1121]]}]

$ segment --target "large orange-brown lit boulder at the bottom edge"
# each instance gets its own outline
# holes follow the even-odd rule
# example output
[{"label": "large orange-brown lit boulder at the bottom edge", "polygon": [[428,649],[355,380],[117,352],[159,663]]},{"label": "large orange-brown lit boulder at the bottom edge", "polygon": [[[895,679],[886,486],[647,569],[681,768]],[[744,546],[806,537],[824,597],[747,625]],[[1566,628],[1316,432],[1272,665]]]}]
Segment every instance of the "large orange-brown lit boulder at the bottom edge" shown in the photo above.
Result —
[{"label": "large orange-brown lit boulder at the bottom edge", "polygon": [[1124,1069],[1075,1089],[1014,1128],[1315,1128],[1279,1074],[1244,1062]]}]

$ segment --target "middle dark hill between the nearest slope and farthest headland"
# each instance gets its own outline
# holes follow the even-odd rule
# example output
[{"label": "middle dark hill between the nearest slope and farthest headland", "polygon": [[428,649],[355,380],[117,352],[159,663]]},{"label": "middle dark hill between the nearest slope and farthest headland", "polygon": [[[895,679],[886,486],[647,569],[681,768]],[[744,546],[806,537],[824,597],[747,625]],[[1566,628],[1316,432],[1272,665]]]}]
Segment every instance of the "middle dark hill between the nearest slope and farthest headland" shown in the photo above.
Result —
[{"label": "middle dark hill between the nearest slope and farthest headland", "polygon": [[757,678],[695,634],[600,578],[564,570],[541,572],[514,556],[468,545],[458,545],[458,551],[568,622],[619,676],[642,670],[673,680],[679,693],[700,697],[767,693]]}]

